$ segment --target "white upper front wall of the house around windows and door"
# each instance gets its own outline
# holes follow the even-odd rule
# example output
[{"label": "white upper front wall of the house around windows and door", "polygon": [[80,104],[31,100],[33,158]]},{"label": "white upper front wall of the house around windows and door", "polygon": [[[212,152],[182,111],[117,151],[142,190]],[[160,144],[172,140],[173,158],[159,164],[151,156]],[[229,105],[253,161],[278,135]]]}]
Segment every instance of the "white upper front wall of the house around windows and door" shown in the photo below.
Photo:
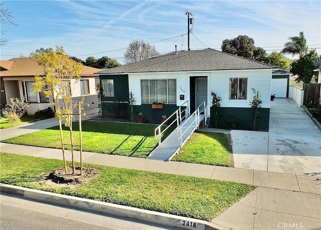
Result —
[{"label": "white upper front wall of the house around windows and door", "polygon": [[[136,99],[136,105],[141,105],[140,80],[141,79],[176,79],[177,80],[177,105],[190,100],[190,77],[208,77],[208,104],[212,105],[211,91],[222,98],[222,107],[249,108],[253,99],[254,88],[262,95],[262,108],[270,108],[271,70],[245,70],[245,71],[212,71],[212,72],[188,72],[188,73],[140,73],[129,74],[129,91],[132,90]],[[230,78],[247,78],[247,99],[229,100]],[[180,100],[180,95],[185,95],[185,100]]]}]

